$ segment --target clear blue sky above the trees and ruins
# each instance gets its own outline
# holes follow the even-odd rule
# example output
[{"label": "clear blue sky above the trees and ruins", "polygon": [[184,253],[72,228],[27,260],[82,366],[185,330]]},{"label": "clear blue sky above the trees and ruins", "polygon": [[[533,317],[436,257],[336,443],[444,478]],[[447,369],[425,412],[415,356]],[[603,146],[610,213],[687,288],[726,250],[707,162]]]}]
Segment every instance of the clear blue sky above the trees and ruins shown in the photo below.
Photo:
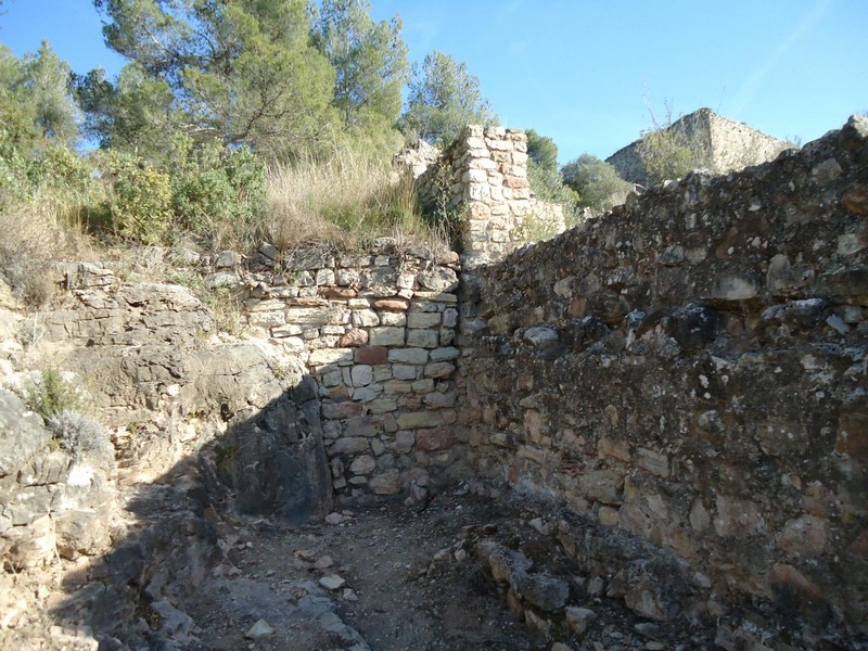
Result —
[{"label": "clear blue sky above the trees and ruins", "polygon": [[[868,111],[868,0],[372,0],[399,14],[412,61],[464,61],[502,124],[605,157],[701,106],[807,142]],[[48,39],[79,73],[105,50],[91,0],[4,0],[0,40]]]}]

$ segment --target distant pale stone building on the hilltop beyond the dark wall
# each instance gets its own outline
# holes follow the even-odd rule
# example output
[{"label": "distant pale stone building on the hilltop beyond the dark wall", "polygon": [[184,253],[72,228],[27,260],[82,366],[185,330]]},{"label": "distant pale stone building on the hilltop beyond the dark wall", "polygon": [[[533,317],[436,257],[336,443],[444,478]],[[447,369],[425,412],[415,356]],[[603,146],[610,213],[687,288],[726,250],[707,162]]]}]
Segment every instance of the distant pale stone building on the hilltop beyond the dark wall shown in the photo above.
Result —
[{"label": "distant pale stone building on the hilltop beyond the dark wall", "polygon": [[[722,117],[711,108],[700,108],[685,115],[668,129],[682,133],[699,148],[702,157],[707,161],[706,167],[718,173],[771,161],[783,150],[793,146],[742,123]],[[640,142],[641,139],[620,149],[605,162],[611,163],[623,179],[644,186],[648,184],[648,176],[640,154]]]}]

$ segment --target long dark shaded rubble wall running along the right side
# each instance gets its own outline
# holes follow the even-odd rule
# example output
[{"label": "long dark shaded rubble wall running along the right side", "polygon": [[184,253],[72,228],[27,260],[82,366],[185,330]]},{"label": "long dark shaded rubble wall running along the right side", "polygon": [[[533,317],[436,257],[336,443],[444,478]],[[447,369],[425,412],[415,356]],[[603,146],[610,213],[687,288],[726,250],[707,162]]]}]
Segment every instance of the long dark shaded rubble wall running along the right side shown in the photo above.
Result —
[{"label": "long dark shaded rubble wall running along the right side", "polygon": [[589,578],[659,621],[868,633],[865,118],[477,271],[469,462],[567,502]]}]

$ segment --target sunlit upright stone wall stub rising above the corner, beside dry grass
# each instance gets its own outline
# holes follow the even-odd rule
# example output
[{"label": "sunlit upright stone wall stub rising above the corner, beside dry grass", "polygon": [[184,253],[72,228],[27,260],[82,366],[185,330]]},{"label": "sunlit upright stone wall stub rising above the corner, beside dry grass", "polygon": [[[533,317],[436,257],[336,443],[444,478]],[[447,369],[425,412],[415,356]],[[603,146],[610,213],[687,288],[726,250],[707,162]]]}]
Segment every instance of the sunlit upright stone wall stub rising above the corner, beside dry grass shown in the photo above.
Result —
[{"label": "sunlit upright stone wall stub rising above the corner, beside dry grass", "polygon": [[429,209],[459,221],[468,269],[565,228],[561,206],[533,196],[524,131],[468,127],[419,183]]}]

